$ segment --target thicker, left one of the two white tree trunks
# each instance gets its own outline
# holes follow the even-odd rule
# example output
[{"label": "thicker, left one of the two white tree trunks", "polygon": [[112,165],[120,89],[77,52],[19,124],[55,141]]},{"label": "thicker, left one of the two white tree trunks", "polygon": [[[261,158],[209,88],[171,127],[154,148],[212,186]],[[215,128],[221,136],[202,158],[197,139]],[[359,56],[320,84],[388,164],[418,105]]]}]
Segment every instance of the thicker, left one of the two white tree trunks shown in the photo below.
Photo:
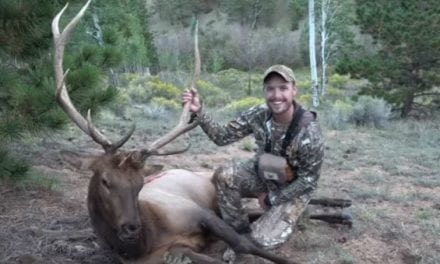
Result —
[{"label": "thicker, left one of the two white tree trunks", "polygon": [[315,45],[315,0],[309,0],[309,56],[310,77],[312,81],[312,103],[319,106],[318,71],[316,69],[316,45]]}]

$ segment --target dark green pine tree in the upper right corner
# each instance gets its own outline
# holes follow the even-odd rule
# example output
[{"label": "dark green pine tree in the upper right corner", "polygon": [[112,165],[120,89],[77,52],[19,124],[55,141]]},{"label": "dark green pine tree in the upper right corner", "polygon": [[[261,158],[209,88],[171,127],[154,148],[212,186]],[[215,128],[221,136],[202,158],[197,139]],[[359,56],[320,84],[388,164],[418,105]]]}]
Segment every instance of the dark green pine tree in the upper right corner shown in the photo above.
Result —
[{"label": "dark green pine tree in the upper right corner", "polygon": [[[439,107],[440,5],[437,0],[357,0],[359,26],[377,43],[368,57],[346,57],[337,70],[367,78],[363,92],[384,97],[407,117]],[[437,88],[436,88],[437,87]]]}]

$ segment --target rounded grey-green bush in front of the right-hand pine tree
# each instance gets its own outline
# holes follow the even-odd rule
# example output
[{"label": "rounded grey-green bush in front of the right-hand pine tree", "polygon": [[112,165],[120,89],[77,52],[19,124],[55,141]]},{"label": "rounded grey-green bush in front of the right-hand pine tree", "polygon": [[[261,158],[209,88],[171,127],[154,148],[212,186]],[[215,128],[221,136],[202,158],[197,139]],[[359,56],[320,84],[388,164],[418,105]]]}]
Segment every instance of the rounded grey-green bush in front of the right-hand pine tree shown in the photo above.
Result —
[{"label": "rounded grey-green bush in front of the right-hand pine tree", "polygon": [[353,106],[351,120],[356,125],[383,128],[391,116],[391,106],[381,98],[361,96]]}]

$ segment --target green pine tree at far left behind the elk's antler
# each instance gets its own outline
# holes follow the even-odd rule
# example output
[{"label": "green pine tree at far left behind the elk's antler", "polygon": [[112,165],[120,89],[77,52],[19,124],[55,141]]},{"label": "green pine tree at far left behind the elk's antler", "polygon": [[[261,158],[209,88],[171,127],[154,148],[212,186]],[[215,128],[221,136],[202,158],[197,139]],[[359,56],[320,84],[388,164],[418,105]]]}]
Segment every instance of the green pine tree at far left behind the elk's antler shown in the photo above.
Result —
[{"label": "green pine tree at far left behind the elk's antler", "polygon": [[[60,129],[67,117],[55,101],[51,21],[66,1],[25,0],[0,2],[0,144],[24,133]],[[81,2],[81,3],[79,3]],[[66,17],[83,1],[70,1]],[[69,18],[67,18],[69,19]],[[62,20],[62,24],[67,21]],[[109,103],[116,89],[106,84],[106,70],[120,62],[112,43],[99,46],[86,33],[90,16],[81,21],[66,51],[70,68],[67,86],[74,104],[84,113]],[[27,166],[2,148],[0,176],[22,174]],[[9,171],[10,173],[6,173]]]}]

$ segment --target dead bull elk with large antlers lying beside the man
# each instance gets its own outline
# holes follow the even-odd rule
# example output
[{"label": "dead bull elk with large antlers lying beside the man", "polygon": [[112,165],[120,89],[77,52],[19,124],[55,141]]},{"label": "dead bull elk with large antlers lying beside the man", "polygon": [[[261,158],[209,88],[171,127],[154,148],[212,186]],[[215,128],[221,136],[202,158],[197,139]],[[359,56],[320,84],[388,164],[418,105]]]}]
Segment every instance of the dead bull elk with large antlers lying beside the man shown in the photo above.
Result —
[{"label": "dead bull elk with large antlers lying beside the man", "polygon": [[[168,170],[154,181],[144,181],[144,163],[149,156],[177,154],[188,149],[161,150],[197,125],[189,122],[189,104],[184,106],[175,128],[148,147],[134,151],[120,149],[133,134],[134,126],[121,140],[112,143],[92,124],[90,111],[87,118],[78,112],[67,92],[65,79],[68,71],[63,70],[63,54],[90,1],[60,32],[59,20],[66,5],[53,19],[52,32],[56,100],[70,119],[104,149],[104,154],[98,156],[62,152],[63,158],[75,167],[93,172],[87,205],[93,229],[100,240],[124,263],[162,263],[165,252],[185,255],[193,263],[223,263],[198,253],[205,245],[207,235],[225,241],[237,253],[253,254],[275,263],[293,263],[258,248],[218,217],[212,176]],[[200,74],[197,33],[194,40],[193,86]]]}]

